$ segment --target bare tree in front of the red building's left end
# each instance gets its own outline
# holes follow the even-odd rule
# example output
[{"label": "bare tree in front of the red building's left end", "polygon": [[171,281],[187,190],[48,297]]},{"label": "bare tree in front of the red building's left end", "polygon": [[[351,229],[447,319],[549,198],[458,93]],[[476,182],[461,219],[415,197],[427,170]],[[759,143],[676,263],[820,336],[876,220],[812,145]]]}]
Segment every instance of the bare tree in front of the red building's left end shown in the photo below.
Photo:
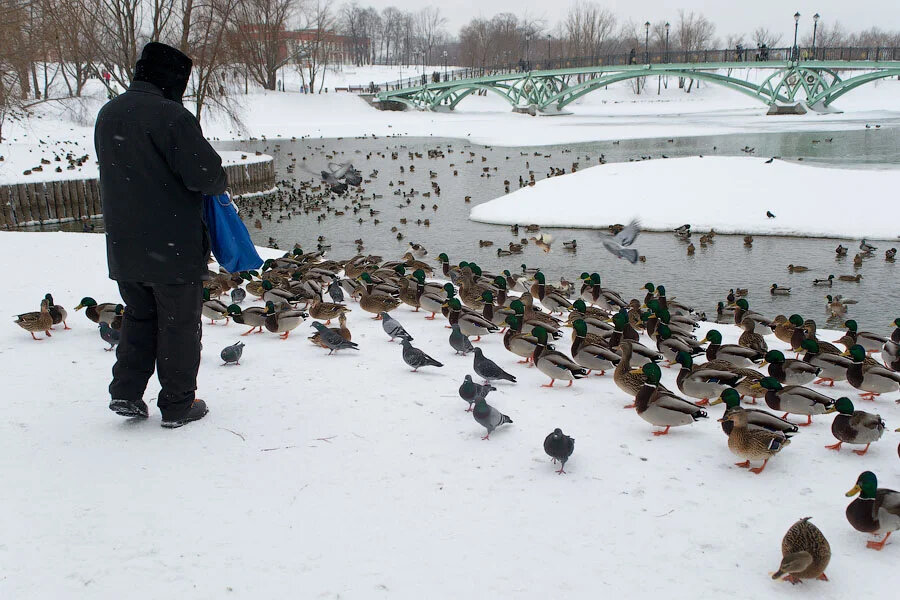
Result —
[{"label": "bare tree in front of the red building's left end", "polygon": [[240,60],[264,89],[276,88],[278,69],[290,58],[284,32],[296,9],[297,0],[241,0],[232,13]]}]

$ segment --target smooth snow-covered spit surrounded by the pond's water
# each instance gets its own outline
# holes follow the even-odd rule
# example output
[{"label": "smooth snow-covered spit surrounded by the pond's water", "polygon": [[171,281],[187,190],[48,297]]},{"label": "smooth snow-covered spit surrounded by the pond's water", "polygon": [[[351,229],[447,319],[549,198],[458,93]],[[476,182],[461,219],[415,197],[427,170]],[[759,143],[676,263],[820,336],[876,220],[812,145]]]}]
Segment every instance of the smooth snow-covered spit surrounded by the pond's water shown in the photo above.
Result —
[{"label": "smooth snow-covered spit surrounded by the pond's water", "polygon": [[[690,157],[598,165],[472,208],[483,223],[596,227],[638,215],[647,229],[896,240],[900,205],[879,202],[900,170],[854,171],[762,158]],[[673,195],[673,190],[682,193]],[[856,205],[855,198],[869,202]],[[774,219],[766,211],[775,214]]]}]

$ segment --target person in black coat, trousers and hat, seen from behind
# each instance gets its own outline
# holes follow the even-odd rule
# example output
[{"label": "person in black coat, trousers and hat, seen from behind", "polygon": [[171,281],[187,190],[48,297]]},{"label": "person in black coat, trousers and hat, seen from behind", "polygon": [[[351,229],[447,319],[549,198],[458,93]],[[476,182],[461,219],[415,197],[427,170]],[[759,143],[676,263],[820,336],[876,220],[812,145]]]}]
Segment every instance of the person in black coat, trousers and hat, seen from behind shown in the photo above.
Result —
[{"label": "person in black coat, trousers and hat, seen from behind", "polygon": [[174,48],[144,46],[131,86],[94,130],[109,276],[126,304],[109,408],[146,417],[155,366],[163,427],[207,413],[194,397],[209,257],[202,195],[226,187],[221,158],[181,104],[191,65]]}]

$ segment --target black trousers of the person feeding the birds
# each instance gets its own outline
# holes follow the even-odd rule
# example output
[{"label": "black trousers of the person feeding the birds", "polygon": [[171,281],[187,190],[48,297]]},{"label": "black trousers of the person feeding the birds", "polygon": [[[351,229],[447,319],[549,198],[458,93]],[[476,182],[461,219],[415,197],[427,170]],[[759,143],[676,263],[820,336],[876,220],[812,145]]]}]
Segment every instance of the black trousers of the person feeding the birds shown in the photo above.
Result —
[{"label": "black trousers of the person feeding the birds", "polygon": [[180,417],[197,389],[203,286],[120,281],[119,293],[125,316],[110,396],[142,398],[155,366],[162,385],[156,401],[159,411],[164,419]]}]

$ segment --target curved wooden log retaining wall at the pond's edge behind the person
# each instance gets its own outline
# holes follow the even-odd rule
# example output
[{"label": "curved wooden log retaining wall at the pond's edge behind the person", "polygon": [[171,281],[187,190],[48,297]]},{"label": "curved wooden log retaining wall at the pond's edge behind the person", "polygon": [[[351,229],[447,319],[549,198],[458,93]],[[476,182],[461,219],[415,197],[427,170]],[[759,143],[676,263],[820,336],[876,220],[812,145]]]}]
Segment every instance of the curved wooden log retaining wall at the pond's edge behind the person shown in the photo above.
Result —
[{"label": "curved wooden log retaining wall at the pond's edge behind the person", "polygon": [[[275,187],[275,163],[267,160],[225,166],[234,195]],[[0,229],[103,216],[100,182],[71,179],[0,185]]]}]

